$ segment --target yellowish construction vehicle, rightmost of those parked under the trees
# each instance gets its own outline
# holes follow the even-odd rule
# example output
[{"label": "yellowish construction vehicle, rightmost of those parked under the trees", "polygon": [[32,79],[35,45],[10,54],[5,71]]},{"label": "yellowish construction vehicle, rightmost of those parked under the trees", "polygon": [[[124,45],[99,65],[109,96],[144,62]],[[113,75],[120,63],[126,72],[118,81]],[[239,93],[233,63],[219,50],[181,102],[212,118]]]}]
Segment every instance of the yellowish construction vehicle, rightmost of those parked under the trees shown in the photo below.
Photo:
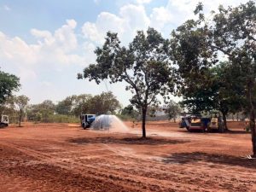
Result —
[{"label": "yellowish construction vehicle, rightmost of those parked under the trees", "polygon": [[224,120],[219,112],[212,112],[212,118],[208,131],[224,132]]}]

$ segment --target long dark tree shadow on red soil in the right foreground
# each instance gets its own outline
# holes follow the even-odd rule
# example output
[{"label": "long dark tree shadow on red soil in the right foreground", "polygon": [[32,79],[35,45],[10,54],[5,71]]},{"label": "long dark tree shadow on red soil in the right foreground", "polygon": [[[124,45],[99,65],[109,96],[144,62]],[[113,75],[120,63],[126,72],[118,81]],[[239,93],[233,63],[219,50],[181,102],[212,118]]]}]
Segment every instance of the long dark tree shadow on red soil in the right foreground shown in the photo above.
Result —
[{"label": "long dark tree shadow on red soil in the right foreground", "polygon": [[249,160],[242,157],[236,157],[226,154],[207,154],[201,152],[172,154],[162,160],[166,164],[188,164],[198,161],[211,162],[228,166],[243,166],[256,169],[256,160]]}]

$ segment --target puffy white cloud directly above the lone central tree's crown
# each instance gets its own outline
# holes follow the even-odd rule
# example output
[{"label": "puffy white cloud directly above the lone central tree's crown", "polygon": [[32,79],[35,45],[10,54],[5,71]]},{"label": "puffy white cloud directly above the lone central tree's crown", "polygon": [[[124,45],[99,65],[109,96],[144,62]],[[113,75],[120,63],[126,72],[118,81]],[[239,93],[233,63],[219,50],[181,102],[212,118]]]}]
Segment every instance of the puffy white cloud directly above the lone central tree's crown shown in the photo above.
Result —
[{"label": "puffy white cloud directly above the lone central tree's crown", "polygon": [[84,38],[102,44],[108,31],[118,32],[119,38],[127,44],[137,30],[147,29],[150,20],[142,5],[126,4],[119,9],[119,15],[102,12],[96,22],[85,22],[82,26]]}]

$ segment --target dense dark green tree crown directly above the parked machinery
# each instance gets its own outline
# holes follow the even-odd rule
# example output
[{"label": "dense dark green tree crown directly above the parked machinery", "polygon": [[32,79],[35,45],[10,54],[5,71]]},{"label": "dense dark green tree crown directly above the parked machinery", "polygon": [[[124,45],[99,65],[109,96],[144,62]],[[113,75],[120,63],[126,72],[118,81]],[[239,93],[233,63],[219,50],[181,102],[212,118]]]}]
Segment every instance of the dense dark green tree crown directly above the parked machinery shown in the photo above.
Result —
[{"label": "dense dark green tree crown directly above the parked machinery", "polygon": [[224,114],[242,110],[245,98],[242,96],[243,86],[234,76],[229,62],[221,62],[207,71],[208,81],[199,81],[195,87],[183,90],[185,108],[192,113],[219,110]]}]

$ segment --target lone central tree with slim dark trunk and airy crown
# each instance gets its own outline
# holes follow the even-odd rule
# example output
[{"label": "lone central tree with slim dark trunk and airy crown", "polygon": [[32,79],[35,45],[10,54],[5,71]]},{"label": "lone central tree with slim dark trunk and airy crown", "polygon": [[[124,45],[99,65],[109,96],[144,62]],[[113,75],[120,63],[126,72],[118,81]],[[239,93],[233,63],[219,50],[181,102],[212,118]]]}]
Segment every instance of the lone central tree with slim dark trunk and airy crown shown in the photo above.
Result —
[{"label": "lone central tree with slim dark trunk and airy crown", "polygon": [[157,96],[173,91],[172,67],[167,55],[168,41],[153,28],[147,34],[138,31],[128,47],[121,46],[117,33],[108,32],[105,44],[97,48],[96,64],[84,68],[78,78],[103,79],[110,83],[125,81],[125,90],[133,94],[130,102],[142,112],[143,137],[146,137],[146,113],[148,106],[157,103]]}]

